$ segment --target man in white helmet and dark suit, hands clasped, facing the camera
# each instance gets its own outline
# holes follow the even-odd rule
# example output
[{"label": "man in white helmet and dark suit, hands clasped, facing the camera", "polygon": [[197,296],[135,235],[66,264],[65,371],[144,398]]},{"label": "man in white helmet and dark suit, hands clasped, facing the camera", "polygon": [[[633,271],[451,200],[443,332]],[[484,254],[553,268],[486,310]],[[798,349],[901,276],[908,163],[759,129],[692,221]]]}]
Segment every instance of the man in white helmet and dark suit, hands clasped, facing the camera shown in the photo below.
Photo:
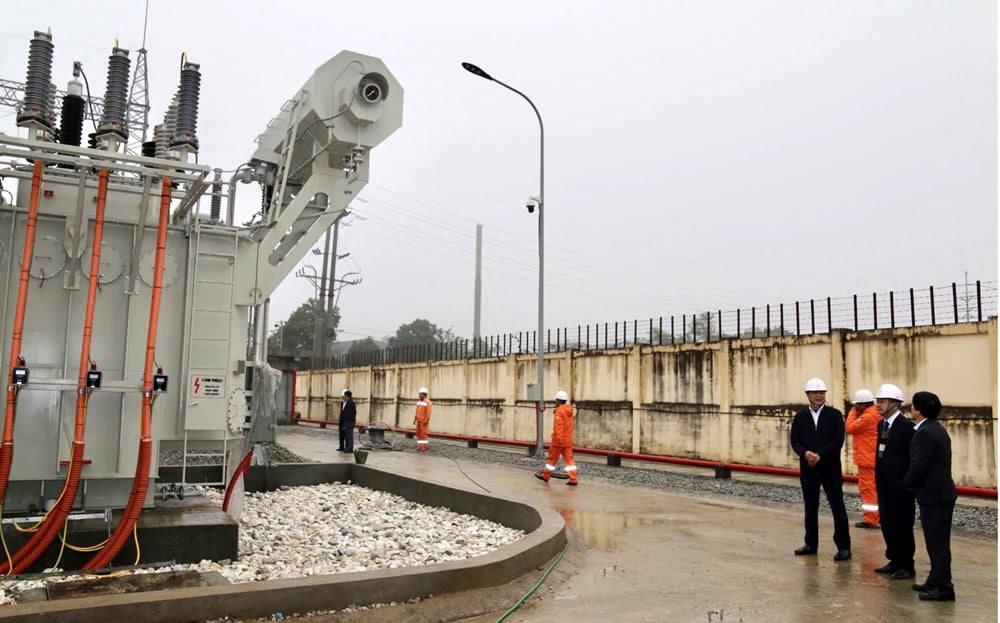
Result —
[{"label": "man in white helmet and dark suit, hands clasped, facing the camera", "polygon": [[826,404],[826,384],[822,379],[806,382],[809,406],[792,420],[792,450],[799,455],[799,482],[805,505],[805,544],[796,556],[815,554],[819,547],[819,489],[833,511],[833,542],[837,545],[834,560],[851,557],[851,533],[844,506],[844,472],[840,450],[844,447],[844,415]]}]

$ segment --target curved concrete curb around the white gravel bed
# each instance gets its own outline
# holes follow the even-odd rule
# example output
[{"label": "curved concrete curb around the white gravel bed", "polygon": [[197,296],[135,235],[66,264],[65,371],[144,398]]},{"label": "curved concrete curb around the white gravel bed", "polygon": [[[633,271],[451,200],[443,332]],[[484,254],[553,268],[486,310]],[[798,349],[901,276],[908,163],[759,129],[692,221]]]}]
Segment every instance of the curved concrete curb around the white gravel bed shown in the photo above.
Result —
[{"label": "curved concrete curb around the white gravel bed", "polygon": [[339,610],[351,605],[406,601],[473,588],[498,586],[534,571],[563,548],[566,526],[557,512],[524,502],[419,482],[355,464],[296,464],[255,468],[248,490],[342,481],[395,493],[489,519],[527,534],[516,543],[468,560],[423,567],[365,571],[224,586],[204,586],[20,604],[0,609],[0,619],[33,623],[80,621],[203,621],[222,617],[259,618]]}]

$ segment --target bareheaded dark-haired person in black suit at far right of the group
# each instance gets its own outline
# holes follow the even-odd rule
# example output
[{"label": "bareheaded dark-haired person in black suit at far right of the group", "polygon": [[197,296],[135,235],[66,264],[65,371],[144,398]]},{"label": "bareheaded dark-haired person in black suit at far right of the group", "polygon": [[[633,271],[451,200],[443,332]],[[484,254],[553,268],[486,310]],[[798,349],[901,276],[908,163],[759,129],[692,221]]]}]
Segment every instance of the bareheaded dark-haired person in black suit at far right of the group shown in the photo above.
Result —
[{"label": "bareheaded dark-haired person in black suit at far right of the group", "polygon": [[920,599],[955,601],[951,583],[951,517],[958,493],[951,478],[951,437],[937,421],[941,400],[931,392],[913,394],[910,409],[914,427],[910,442],[910,469],[903,477],[907,489],[916,492],[920,504],[920,526],[931,559],[927,581],[914,584]]}]

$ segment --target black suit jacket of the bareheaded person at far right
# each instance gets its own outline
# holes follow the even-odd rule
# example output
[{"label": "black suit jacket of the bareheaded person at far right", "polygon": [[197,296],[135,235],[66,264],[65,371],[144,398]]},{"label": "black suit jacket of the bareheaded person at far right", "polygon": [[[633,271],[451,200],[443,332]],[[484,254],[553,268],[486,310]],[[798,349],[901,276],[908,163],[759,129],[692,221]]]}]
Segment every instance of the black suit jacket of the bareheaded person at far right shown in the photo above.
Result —
[{"label": "black suit jacket of the bareheaded person at far right", "polygon": [[958,498],[951,478],[951,437],[941,422],[924,420],[913,434],[903,484],[920,504],[951,504]]}]

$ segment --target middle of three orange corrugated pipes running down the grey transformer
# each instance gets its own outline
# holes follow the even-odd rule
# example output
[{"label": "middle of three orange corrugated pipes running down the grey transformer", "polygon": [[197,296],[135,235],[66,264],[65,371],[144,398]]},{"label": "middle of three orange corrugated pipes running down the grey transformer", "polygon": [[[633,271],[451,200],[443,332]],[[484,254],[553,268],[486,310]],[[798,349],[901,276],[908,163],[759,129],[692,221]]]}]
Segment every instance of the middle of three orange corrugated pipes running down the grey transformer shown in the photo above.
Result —
[{"label": "middle of three orange corrugated pipes running down the grey transformer", "polygon": [[83,469],[84,431],[87,425],[87,401],[90,392],[87,391],[87,370],[90,363],[90,341],[94,326],[94,302],[97,299],[97,284],[101,274],[101,238],[104,234],[104,208],[108,198],[108,170],[101,169],[97,184],[97,212],[94,217],[93,252],[90,256],[90,284],[87,288],[87,309],[83,321],[83,341],[80,345],[80,375],[77,380],[76,394],[76,426],[73,431],[73,453],[69,468],[66,470],[66,480],[63,483],[59,501],[53,512],[46,514],[41,527],[13,558],[13,569],[8,561],[0,564],[0,573],[11,571],[14,575],[23,573],[38,557],[41,556],[62,530],[62,524],[73,508],[76,490],[80,484],[80,472]]}]

